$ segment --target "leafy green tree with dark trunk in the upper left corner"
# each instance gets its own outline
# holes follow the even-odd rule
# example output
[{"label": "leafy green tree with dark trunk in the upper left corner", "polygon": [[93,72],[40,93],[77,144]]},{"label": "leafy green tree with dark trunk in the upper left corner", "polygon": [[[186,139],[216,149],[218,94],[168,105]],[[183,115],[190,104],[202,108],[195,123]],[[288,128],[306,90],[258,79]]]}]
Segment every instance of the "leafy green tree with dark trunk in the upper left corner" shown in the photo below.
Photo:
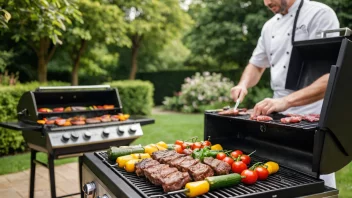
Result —
[{"label": "leafy green tree with dark trunk in the upper left corner", "polygon": [[47,81],[47,64],[53,57],[60,36],[72,19],[81,20],[76,0],[0,0],[12,15],[8,24],[17,42],[24,40],[36,52],[38,80]]}]

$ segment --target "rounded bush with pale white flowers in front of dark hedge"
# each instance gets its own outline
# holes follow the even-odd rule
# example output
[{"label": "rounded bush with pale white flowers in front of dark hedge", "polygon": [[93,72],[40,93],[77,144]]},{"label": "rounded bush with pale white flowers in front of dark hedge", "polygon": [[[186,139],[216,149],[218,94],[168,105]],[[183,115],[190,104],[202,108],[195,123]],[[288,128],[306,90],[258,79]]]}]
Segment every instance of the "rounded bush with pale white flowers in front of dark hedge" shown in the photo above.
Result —
[{"label": "rounded bush with pale white flowers in front of dark hedge", "polygon": [[204,72],[186,78],[181,91],[174,97],[165,97],[164,108],[187,113],[201,112],[206,108],[221,108],[233,103],[230,90],[234,83],[221,74]]}]

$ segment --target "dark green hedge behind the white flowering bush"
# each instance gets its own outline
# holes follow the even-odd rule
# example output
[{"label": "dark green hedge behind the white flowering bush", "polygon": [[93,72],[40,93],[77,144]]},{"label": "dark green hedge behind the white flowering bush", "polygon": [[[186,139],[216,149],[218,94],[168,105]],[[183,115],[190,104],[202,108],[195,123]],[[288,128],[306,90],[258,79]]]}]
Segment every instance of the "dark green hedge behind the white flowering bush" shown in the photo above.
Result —
[{"label": "dark green hedge behind the white flowering bush", "polygon": [[[224,77],[234,81],[235,84],[240,80],[242,69],[236,70],[219,70],[209,71],[221,73]],[[137,73],[137,78],[140,80],[150,81],[153,83],[154,103],[161,105],[165,96],[173,96],[175,92],[181,90],[181,85],[186,77],[191,77],[199,71],[160,71],[160,72],[145,72]],[[270,72],[266,71],[258,84],[259,88],[270,88]]]}]

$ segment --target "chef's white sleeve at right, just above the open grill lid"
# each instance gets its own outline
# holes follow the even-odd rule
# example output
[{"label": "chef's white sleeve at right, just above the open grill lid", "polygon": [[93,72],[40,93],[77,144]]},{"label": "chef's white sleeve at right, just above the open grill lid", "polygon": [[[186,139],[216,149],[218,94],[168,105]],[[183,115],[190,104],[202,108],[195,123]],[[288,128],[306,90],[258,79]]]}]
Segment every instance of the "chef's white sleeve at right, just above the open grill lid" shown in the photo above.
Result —
[{"label": "chef's white sleeve at right, just above the open grill lid", "polygon": [[[317,33],[325,30],[332,30],[340,28],[339,20],[336,16],[336,13],[331,8],[321,9],[314,16],[314,19],[309,24],[308,29],[309,39],[316,39]],[[339,36],[339,33],[329,33],[327,37]]]}]

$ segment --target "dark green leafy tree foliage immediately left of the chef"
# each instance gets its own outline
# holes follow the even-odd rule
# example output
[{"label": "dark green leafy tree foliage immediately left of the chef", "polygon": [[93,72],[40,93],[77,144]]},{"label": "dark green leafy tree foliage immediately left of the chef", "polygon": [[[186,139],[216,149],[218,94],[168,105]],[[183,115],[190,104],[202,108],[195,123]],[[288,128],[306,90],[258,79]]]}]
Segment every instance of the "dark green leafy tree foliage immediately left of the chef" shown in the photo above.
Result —
[{"label": "dark green leafy tree foliage immediately left of the chef", "polygon": [[207,69],[244,67],[272,16],[262,0],[194,1],[190,13],[196,26],[184,39],[192,51],[188,62]]}]

